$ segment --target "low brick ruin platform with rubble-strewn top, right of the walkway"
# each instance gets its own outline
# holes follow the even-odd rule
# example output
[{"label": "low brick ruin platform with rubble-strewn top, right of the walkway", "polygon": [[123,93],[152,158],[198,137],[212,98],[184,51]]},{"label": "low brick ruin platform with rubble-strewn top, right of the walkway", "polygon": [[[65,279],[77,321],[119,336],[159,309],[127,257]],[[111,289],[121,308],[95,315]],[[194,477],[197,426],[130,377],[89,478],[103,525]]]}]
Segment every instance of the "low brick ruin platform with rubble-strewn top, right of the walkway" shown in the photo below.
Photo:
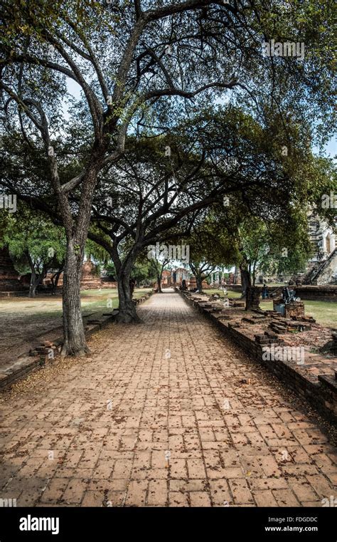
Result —
[{"label": "low brick ruin platform with rubble-strewn top, right of the walkway", "polygon": [[[257,363],[303,397],[327,419],[337,420],[337,334],[309,316],[284,318],[275,311],[245,311],[243,301],[181,292]],[[331,340],[332,336],[332,340]],[[328,344],[327,344],[328,343]]]}]

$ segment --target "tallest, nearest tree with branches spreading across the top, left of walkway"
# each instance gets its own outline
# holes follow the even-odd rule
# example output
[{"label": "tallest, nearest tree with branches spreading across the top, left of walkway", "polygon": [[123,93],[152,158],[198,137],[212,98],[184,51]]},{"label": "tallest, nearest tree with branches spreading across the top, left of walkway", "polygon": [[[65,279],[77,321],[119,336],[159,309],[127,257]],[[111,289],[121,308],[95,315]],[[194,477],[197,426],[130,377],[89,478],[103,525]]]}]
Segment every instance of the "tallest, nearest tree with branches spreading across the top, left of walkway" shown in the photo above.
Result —
[{"label": "tallest, nearest tree with branches spreading across the top, left of walkway", "polygon": [[[260,110],[264,118],[277,110],[284,127],[287,108],[295,117],[305,110],[326,120],[331,103],[331,3],[317,8],[311,0],[4,0],[0,16],[6,129],[20,126],[23,140],[36,154],[43,150],[48,162],[42,195],[53,192],[50,212],[58,214],[68,241],[63,353],[81,355],[87,347],[80,271],[92,197],[100,170],[123,154],[130,124],[146,130],[149,120],[160,127],[163,110],[181,116],[184,101],[195,98],[198,106],[201,93],[203,100],[214,100],[224,89],[237,91],[247,108],[267,104]],[[263,56],[261,42],[272,38],[303,41],[306,56],[302,61]],[[63,143],[73,136],[67,131],[64,100],[69,82],[81,92],[77,135],[82,133],[82,138],[64,167]],[[287,147],[288,139],[285,130],[277,145]],[[8,179],[5,185],[16,189]],[[40,199],[41,187],[28,182],[23,195],[28,194]],[[115,259],[117,269],[117,255]],[[117,273],[127,283],[122,269]]]}]

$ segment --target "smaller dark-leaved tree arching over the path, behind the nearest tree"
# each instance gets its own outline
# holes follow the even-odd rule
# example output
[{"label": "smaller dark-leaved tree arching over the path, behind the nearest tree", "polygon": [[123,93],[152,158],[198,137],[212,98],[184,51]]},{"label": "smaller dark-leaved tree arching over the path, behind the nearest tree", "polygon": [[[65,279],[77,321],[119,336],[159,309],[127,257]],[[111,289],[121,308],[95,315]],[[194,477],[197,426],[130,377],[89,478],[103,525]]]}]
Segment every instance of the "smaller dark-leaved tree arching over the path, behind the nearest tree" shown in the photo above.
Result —
[{"label": "smaller dark-leaved tree arching over the path, behind the nearest tree", "polygon": [[294,205],[305,203],[311,153],[289,123],[292,149],[284,157],[282,133],[282,125],[279,131],[274,127],[271,142],[269,125],[228,105],[192,113],[166,135],[148,130],[128,139],[127,155],[100,178],[93,199],[95,232],[89,233],[114,261],[120,321],[138,320],[129,276],[144,247],[178,242],[184,250],[184,239],[200,229],[215,204],[222,209],[221,224],[230,229],[247,214],[284,224]]}]

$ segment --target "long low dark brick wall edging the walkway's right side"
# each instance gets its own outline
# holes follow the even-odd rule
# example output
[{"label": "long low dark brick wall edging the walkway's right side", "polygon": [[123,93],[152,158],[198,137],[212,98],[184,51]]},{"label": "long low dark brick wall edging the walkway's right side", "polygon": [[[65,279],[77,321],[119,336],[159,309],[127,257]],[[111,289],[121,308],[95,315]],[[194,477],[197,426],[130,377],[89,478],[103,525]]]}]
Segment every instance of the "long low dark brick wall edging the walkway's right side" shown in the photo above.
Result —
[{"label": "long low dark brick wall edging the walkway's right side", "polygon": [[[319,375],[317,382],[314,377],[306,375],[301,367],[291,365],[288,361],[264,360],[262,345],[241,333],[240,328],[232,327],[230,321],[221,320],[221,317],[219,318],[218,313],[214,313],[212,308],[204,308],[190,296],[183,292],[180,293],[186,301],[198,308],[200,313],[203,313],[214,323],[227,338],[242,348],[252,360],[270,370],[279,380],[282,380],[291,390],[296,392],[296,395],[309,401],[330,422],[337,422],[337,372],[335,379],[330,375]],[[273,341],[273,343],[277,346],[277,342]],[[281,340],[279,345],[282,345]]]}]

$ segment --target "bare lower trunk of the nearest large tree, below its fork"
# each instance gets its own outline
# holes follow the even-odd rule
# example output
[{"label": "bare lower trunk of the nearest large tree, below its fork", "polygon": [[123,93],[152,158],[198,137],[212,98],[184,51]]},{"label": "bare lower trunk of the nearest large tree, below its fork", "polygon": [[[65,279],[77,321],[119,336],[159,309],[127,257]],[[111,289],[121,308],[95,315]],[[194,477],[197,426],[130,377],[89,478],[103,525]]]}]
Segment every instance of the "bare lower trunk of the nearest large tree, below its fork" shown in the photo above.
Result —
[{"label": "bare lower trunk of the nearest large tree, below its fork", "polygon": [[82,259],[82,254],[76,253],[73,241],[70,241],[63,273],[64,343],[62,355],[83,356],[90,352],[85,341],[80,298]]}]

